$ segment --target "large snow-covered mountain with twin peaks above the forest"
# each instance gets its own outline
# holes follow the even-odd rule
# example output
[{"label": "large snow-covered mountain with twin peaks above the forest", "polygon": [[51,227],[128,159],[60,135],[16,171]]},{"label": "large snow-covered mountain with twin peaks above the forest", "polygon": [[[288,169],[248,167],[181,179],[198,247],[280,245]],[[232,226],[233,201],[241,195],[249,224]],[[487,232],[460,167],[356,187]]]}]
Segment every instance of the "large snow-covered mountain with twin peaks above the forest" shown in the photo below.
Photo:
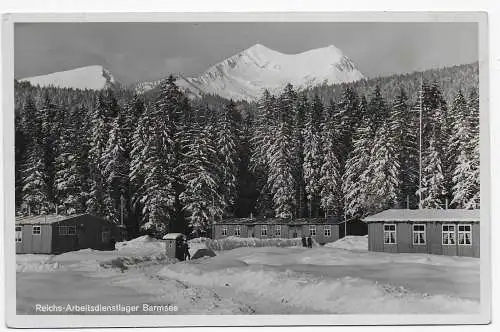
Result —
[{"label": "large snow-covered mountain with twin peaks above the forest", "polygon": [[[363,78],[356,65],[333,45],[299,54],[283,54],[257,44],[210,67],[198,77],[181,76],[177,83],[194,95],[205,93],[255,100],[264,89],[277,93],[286,83],[304,89]],[[147,91],[157,84],[158,81],[144,82],[137,90]]]}]

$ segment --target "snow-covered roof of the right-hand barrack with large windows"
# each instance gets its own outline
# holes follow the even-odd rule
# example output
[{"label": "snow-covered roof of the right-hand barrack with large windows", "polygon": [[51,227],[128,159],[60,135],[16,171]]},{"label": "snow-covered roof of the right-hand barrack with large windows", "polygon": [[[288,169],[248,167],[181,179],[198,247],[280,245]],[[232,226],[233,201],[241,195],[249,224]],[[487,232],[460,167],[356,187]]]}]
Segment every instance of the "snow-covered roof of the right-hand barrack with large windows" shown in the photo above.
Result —
[{"label": "snow-covered roof of the right-hand barrack with large windows", "polygon": [[371,215],[363,219],[364,222],[378,222],[378,221],[420,221],[420,222],[435,222],[435,221],[463,221],[463,222],[479,222],[479,209],[465,210],[465,209],[420,209],[420,210],[406,210],[406,209],[392,209],[385,210],[380,213]]}]

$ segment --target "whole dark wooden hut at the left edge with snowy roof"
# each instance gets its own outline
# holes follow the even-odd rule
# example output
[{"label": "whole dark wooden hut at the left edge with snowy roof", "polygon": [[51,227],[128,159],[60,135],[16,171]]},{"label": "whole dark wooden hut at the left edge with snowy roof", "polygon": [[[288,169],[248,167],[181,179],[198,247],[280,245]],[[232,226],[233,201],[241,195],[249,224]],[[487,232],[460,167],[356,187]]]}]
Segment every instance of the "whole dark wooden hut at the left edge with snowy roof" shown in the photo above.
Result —
[{"label": "whole dark wooden hut at the left edge with snowy roof", "polygon": [[16,218],[16,253],[59,254],[86,248],[113,250],[116,224],[90,214]]}]

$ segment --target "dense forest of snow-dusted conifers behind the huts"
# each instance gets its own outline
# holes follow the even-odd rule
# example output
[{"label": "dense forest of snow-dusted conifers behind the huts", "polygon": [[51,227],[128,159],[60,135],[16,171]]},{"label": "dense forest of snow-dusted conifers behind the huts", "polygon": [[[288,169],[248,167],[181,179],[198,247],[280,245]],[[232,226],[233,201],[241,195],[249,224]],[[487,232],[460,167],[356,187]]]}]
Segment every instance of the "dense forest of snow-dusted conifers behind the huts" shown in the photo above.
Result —
[{"label": "dense forest of snow-dusted conifers behind the huts", "polygon": [[160,236],[251,214],[478,208],[478,84],[477,63],[258,102],[189,99],[172,76],[140,95],[15,82],[16,210],[119,223],[123,206],[130,235]]}]

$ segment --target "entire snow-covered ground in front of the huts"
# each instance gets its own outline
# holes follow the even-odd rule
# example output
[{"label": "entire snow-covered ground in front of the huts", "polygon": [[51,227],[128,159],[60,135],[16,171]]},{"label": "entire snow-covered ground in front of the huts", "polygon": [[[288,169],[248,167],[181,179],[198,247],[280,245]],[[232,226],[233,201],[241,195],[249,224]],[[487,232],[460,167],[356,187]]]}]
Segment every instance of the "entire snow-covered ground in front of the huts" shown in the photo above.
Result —
[{"label": "entire snow-covered ground in front of the huts", "polygon": [[162,241],[141,237],[108,252],[17,255],[17,310],[147,303],[176,305],[177,314],[479,311],[479,259],[372,253],[366,237],[312,249],[242,247],[182,263],[163,252]]}]

